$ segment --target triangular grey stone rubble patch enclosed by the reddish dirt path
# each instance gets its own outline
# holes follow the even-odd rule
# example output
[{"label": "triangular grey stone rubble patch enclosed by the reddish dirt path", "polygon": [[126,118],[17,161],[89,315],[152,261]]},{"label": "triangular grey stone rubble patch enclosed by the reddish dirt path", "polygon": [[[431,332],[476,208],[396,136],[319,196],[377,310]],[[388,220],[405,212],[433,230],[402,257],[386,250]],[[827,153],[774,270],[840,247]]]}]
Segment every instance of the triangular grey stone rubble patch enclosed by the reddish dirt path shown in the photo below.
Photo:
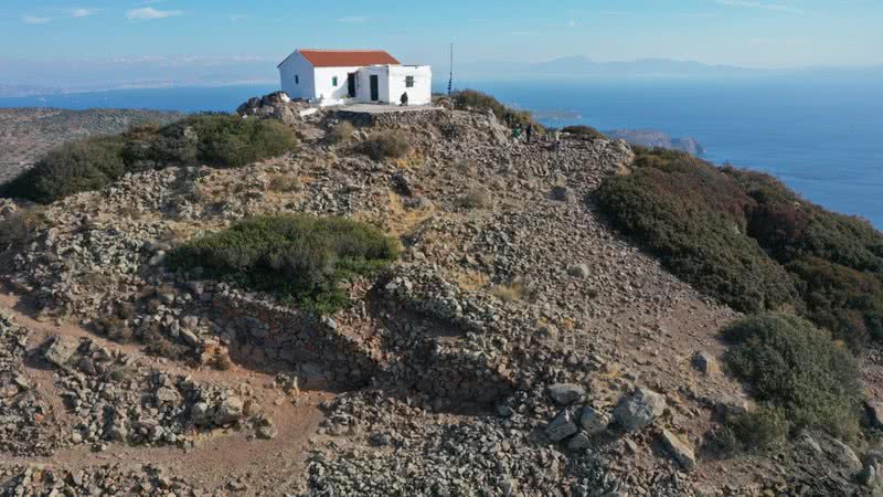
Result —
[{"label": "triangular grey stone rubble patch enclosed by the reddish dirt path", "polygon": [[246,417],[233,391],[151,370],[89,339],[55,337],[44,358],[57,367],[55,383],[77,420],[74,444],[184,444]]}]

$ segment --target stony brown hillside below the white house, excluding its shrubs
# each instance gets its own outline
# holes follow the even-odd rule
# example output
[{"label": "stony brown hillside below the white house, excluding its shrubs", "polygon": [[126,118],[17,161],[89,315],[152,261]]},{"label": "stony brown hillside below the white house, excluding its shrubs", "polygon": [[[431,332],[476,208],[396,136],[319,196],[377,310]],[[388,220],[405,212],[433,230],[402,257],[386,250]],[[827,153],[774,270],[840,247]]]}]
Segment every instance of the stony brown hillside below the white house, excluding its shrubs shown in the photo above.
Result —
[{"label": "stony brown hillside below the white house, excluding its shrubs", "polygon": [[[492,116],[446,112],[392,119],[414,150],[373,161],[372,129],[330,145],[333,112],[264,104],[245,110],[292,125],[298,152],[126,177],[3,254],[0,495],[872,491],[855,475],[876,459],[823,434],[735,458],[709,442],[749,404],[717,366],[738,315],[593,209],[625,142],[512,144]],[[278,212],[369,221],[405,252],[312,320],[163,266]]]}]

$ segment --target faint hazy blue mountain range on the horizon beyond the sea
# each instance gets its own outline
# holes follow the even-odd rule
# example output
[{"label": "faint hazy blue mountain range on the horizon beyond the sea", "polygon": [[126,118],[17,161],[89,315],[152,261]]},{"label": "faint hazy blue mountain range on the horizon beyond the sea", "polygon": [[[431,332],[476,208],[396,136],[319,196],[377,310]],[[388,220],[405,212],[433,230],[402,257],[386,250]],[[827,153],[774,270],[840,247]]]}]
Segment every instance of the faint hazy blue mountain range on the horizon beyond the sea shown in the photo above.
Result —
[{"label": "faint hazy blue mountain range on the horizon beyond the sea", "polygon": [[[277,84],[276,59],[158,59],[119,61],[0,60],[0,97],[104,92],[121,88],[162,88],[182,86],[225,86]],[[434,64],[436,84],[447,82],[447,61]],[[640,59],[637,61],[596,62],[586,56],[566,56],[546,62],[482,61],[457,63],[455,77],[460,81],[511,81],[552,77],[635,78],[635,77],[765,77],[776,75],[813,77],[883,77],[883,66],[805,67],[764,70],[734,65],[712,65],[693,61]],[[52,82],[47,86],[45,82]]]}]

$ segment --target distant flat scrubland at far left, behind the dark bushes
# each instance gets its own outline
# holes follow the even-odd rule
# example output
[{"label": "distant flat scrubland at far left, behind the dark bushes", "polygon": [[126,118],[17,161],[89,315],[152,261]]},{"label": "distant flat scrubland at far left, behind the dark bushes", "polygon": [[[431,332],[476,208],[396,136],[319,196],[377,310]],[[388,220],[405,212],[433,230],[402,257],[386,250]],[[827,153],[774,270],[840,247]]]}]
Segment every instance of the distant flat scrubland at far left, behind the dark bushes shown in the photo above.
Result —
[{"label": "distant flat scrubland at far left, behind the dark bushes", "polygon": [[170,123],[180,113],[141,109],[0,109],[0,182],[29,169],[51,148],[93,135],[114,135],[143,123]]}]

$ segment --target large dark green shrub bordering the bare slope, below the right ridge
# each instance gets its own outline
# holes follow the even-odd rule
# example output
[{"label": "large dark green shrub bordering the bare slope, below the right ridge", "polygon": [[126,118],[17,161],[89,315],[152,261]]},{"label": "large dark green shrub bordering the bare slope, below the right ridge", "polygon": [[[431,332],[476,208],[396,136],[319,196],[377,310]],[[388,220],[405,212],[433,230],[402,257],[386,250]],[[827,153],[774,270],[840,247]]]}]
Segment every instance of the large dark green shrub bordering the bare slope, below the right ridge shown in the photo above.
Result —
[{"label": "large dark green shrub bordering the bare slope, below the right ridge", "polygon": [[[673,158],[670,160],[669,158]],[[745,236],[751,199],[713,167],[687,155],[639,155],[635,171],[606,179],[598,203],[616,226],[683,279],[744,311],[795,298],[785,269]]]}]

